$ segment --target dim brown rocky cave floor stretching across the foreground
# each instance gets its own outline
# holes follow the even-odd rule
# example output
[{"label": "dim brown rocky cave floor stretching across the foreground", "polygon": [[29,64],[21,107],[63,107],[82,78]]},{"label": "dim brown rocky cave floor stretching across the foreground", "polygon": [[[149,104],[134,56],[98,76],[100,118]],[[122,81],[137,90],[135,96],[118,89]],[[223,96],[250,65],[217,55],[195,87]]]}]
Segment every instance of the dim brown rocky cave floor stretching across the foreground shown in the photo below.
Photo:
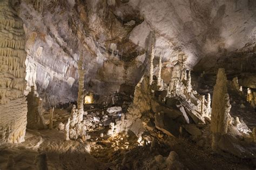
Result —
[{"label": "dim brown rocky cave floor stretching across the foreground", "polygon": [[[55,126],[59,119],[67,116],[68,111],[56,109],[56,112],[59,114],[56,114]],[[214,154],[211,148],[200,147],[184,137],[166,136],[158,130],[151,131],[149,135],[157,141],[153,149],[151,144],[139,144],[133,133],[99,137],[106,130],[88,132],[91,138],[82,143],[65,141],[63,131],[57,129],[28,129],[23,143],[0,146],[0,169],[6,169],[9,155],[14,156],[14,169],[36,169],[35,157],[41,152],[47,154],[49,169],[150,169],[156,155],[167,157],[170,151],[176,151],[180,162],[188,169],[254,167],[251,160],[226,153]]]}]

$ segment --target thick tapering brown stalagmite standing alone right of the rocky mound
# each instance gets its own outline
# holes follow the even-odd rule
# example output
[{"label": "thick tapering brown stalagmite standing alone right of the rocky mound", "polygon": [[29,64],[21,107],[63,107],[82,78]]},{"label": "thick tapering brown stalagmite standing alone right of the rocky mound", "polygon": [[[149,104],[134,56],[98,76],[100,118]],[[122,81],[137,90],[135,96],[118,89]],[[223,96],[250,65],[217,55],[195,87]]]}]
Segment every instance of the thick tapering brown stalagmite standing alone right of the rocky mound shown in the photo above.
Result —
[{"label": "thick tapering brown stalagmite standing alone right of the rocky mound", "polygon": [[222,134],[227,133],[228,114],[231,105],[227,94],[227,77],[225,69],[220,68],[217,74],[216,85],[213,90],[211,131],[212,131],[212,150],[218,149],[218,141]]}]

